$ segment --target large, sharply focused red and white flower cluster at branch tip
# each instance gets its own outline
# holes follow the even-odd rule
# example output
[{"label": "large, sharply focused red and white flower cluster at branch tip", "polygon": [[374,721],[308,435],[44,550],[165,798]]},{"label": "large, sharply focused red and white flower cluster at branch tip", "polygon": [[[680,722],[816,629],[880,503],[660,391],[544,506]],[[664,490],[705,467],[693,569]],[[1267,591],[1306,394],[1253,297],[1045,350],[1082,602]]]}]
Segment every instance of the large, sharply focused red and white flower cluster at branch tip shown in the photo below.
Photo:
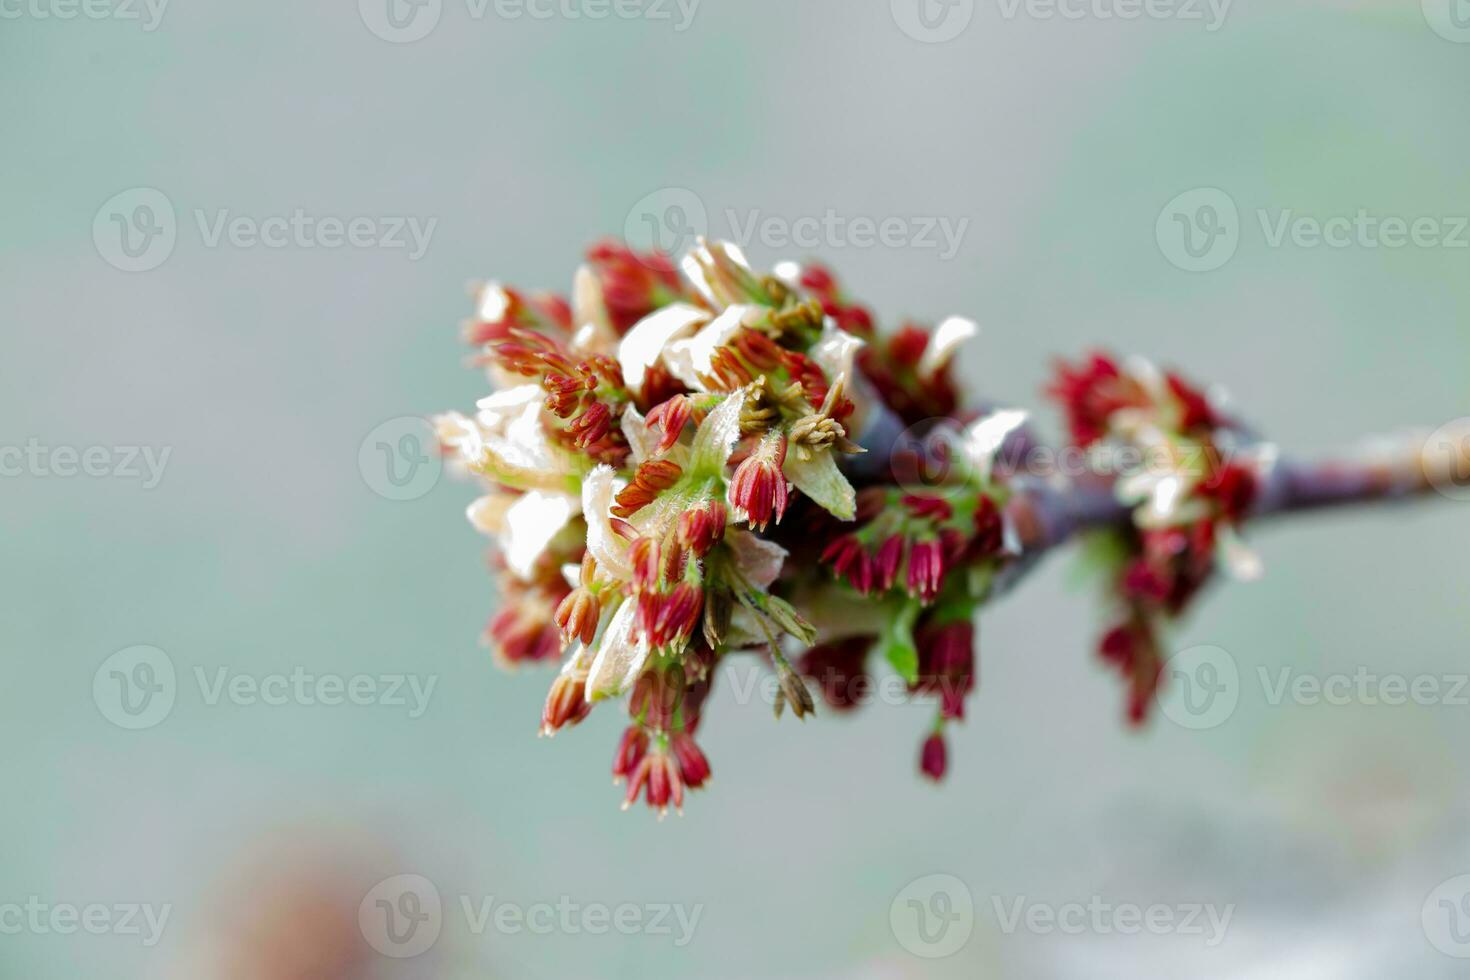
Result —
[{"label": "large, sharply focused red and white flower cluster at branch tip", "polygon": [[[778,716],[804,717],[808,685],[856,704],[878,651],[938,701],[920,768],[939,777],[1007,560],[991,455],[1023,417],[960,414],[950,363],[975,325],[882,336],[828,270],[760,275],[704,241],[678,266],[597,244],[570,301],[475,297],[465,336],[497,391],[435,425],[484,485],[469,520],[497,542],[495,657],[560,663],[542,733],[625,699],[613,774],[662,814],[710,779],[695,735],[726,655],[764,660]],[[963,479],[908,492],[853,466],[894,417],[966,422]]]}]

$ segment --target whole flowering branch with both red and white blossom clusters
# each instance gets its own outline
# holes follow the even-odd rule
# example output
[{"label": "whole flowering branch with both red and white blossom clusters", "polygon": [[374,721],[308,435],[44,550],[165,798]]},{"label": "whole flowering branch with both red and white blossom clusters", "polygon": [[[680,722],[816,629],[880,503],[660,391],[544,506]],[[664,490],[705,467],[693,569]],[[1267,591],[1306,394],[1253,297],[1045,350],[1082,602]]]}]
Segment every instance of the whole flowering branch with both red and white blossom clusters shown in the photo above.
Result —
[{"label": "whole flowering branch with both red and white blossom clusters", "polygon": [[1102,572],[1098,651],[1139,723],[1161,629],[1217,567],[1260,574],[1248,525],[1470,473],[1470,432],[1448,454],[1283,463],[1180,375],[1104,354],[1058,364],[1070,441],[1050,450],[1026,413],[963,404],[973,322],[881,334],[823,267],[759,275],[720,242],[678,267],[604,242],[570,303],[498,284],[476,301],[466,338],[498,391],[435,422],[497,542],[487,641],[507,666],[560,661],[544,735],[622,699],[613,776],[660,814],[710,777],[695,735],[729,654],[759,654],[798,717],[811,688],[854,707],[886,661],[936,702],[920,768],[939,779],[976,613],[1041,555],[1080,539]]}]

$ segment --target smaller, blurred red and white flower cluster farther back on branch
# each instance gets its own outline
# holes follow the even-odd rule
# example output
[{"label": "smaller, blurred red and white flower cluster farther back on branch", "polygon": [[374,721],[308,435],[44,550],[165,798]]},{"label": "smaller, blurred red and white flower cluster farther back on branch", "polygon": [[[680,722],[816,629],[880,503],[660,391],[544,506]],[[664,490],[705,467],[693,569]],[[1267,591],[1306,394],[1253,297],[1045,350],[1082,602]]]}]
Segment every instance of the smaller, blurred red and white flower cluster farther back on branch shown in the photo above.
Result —
[{"label": "smaller, blurred red and white flower cluster farther back on branch", "polygon": [[1091,551],[1116,605],[1098,652],[1122,674],[1127,718],[1141,724],[1163,673],[1160,626],[1191,607],[1217,566],[1260,574],[1239,529],[1273,455],[1225,414],[1219,395],[1141,359],[1058,363],[1048,394],[1076,447],[1126,460],[1113,491],[1133,508],[1132,525],[1095,532]]}]

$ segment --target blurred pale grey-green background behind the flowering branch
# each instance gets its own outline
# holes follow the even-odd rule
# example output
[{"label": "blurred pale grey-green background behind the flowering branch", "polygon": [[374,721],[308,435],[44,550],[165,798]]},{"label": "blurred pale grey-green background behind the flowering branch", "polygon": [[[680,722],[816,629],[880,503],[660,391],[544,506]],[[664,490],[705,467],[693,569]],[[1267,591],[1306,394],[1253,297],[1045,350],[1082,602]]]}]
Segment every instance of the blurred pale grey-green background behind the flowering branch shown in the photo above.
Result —
[{"label": "blurred pale grey-green background behind the flowering branch", "polygon": [[[1238,666],[1213,727],[1125,729],[1054,557],[983,616],[942,788],[925,705],[726,685],[660,824],[607,785],[616,710],[535,738],[475,491],[410,467],[487,394],[465,284],[566,291],[625,229],[972,316],[963,378],[1053,433],[1092,345],[1288,451],[1470,414],[1460,0],[159,1],[0,6],[0,976],[1463,976],[1449,501],[1261,529],[1267,579],[1175,636]],[[1276,234],[1360,212],[1438,231]],[[1283,669],[1444,696],[1273,704]],[[1175,918],[1045,927],[1078,904]]]}]

